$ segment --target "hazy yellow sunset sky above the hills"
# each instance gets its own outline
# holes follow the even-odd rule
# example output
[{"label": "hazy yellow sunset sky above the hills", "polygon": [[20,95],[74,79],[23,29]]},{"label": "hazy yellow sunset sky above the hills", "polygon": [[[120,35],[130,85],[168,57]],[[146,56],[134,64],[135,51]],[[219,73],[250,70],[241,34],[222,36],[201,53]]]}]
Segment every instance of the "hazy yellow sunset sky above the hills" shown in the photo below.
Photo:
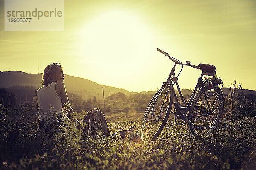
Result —
[{"label": "hazy yellow sunset sky above the hills", "polygon": [[[224,87],[236,80],[256,90],[255,46],[255,0],[65,0],[64,31],[4,31],[0,0],[0,71],[36,74],[60,62],[64,74],[152,91],[174,64],[160,48],[181,62],[215,65]],[[200,74],[183,67],[180,88],[195,88]]]}]

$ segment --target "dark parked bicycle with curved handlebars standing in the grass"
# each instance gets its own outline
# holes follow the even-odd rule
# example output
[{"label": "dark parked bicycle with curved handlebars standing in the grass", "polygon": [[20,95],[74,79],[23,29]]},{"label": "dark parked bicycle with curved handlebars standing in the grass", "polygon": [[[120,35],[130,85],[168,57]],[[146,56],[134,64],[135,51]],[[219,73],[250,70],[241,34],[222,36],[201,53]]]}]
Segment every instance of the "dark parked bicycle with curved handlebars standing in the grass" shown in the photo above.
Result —
[{"label": "dark parked bicycle with curved handlebars standing in the grass", "polygon": [[[217,126],[224,107],[222,87],[218,87],[221,84],[223,86],[223,83],[221,77],[215,77],[215,66],[209,64],[196,66],[192,65],[190,61],[186,61],[185,64],[158,48],[157,51],[169,57],[175,64],[167,81],[163,82],[146,108],[140,130],[141,139],[151,139],[152,141],[157,139],[167,121],[174,121],[176,125],[188,124],[189,132],[194,139],[208,135]],[[175,77],[177,64],[181,65],[182,68],[183,66],[191,66],[202,70],[189,102],[184,100],[178,84],[177,77],[180,73]],[[203,81],[203,75],[212,76],[212,78],[204,78]],[[181,102],[185,106],[180,104],[174,90],[174,84],[176,84]]]}]

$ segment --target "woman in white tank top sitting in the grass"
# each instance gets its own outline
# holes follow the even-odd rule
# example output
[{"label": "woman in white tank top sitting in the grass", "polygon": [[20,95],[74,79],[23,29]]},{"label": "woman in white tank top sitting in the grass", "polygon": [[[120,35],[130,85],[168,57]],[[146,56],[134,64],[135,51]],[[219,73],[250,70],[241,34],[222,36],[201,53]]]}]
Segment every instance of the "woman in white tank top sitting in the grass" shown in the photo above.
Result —
[{"label": "woman in white tank top sitting in the grass", "polygon": [[[39,130],[45,128],[45,132],[51,133],[52,125],[61,125],[62,116],[72,119],[74,113],[69,105],[66,88],[64,85],[63,68],[60,63],[47,65],[42,76],[43,87],[37,90]],[[62,108],[67,104],[69,112],[64,115]],[[79,124],[78,128],[81,127]]]}]

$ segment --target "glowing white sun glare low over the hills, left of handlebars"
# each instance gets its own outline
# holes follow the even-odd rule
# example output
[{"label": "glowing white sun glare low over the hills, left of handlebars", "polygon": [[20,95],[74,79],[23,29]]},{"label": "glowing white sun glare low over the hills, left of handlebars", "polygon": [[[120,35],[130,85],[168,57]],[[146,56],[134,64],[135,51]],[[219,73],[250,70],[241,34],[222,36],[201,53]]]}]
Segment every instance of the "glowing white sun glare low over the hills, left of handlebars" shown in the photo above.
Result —
[{"label": "glowing white sun glare low over the hills, left of handlebars", "polygon": [[93,67],[104,71],[87,73],[88,79],[132,89],[130,78],[137,81],[143,75],[139,71],[150,69],[147,63],[156,46],[149,26],[137,15],[107,12],[86,23],[80,32],[81,62],[87,65],[87,70]]}]

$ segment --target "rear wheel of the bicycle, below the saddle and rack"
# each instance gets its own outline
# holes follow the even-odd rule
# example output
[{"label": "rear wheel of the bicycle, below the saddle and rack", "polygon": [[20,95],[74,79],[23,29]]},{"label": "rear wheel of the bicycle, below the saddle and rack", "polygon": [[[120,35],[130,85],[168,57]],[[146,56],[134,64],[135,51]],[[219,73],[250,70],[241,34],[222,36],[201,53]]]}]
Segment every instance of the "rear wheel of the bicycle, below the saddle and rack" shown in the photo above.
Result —
[{"label": "rear wheel of the bicycle, below the saddle and rack", "polygon": [[[205,87],[192,101],[189,131],[195,138],[208,135],[217,126],[223,111],[224,98],[220,88]],[[202,116],[204,115],[204,116]]]}]

